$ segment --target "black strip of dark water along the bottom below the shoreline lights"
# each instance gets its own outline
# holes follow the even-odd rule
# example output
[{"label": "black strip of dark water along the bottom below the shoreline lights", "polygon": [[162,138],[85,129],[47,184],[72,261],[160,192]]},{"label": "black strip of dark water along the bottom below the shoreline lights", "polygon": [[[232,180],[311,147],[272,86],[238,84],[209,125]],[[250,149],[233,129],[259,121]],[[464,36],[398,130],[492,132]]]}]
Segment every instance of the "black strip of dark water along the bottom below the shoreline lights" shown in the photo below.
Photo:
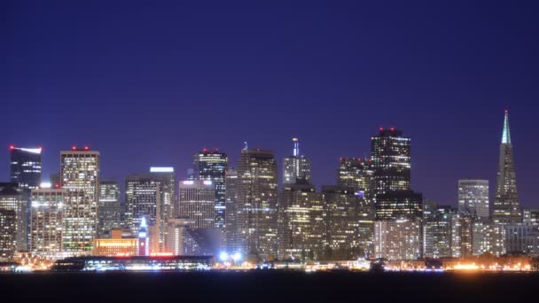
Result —
[{"label": "black strip of dark water along the bottom below the shoreline lights", "polygon": [[[539,274],[40,273],[0,275],[6,298],[177,298],[207,302],[539,302]],[[58,300],[55,300],[58,301]],[[84,300],[85,301],[85,300]],[[12,301],[15,302],[15,301]],[[121,301],[118,301],[121,302]]]}]

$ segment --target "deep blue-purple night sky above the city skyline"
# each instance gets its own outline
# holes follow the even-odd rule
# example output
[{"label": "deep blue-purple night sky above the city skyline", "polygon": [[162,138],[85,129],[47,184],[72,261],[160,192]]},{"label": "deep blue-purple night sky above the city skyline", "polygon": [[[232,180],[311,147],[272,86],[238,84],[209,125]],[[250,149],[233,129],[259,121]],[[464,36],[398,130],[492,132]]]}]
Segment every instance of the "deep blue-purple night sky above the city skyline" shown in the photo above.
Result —
[{"label": "deep blue-purple night sky above the city skyline", "polygon": [[[2,1],[0,175],[8,145],[101,151],[102,177],[219,148],[313,161],[370,154],[380,127],[412,142],[412,187],[457,205],[457,179],[496,186],[510,109],[523,206],[539,207],[539,18],[534,2]],[[291,4],[293,3],[293,4]]]}]

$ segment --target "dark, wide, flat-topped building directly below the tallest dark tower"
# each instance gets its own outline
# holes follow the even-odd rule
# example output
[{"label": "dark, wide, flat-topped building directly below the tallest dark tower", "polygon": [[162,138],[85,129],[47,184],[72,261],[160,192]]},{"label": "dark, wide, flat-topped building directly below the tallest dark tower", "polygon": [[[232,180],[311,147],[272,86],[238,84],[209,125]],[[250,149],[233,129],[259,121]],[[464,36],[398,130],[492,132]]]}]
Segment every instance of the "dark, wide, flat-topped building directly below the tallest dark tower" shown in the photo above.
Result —
[{"label": "dark, wide, flat-topped building directly below the tallest dark tower", "polygon": [[423,195],[411,190],[387,191],[376,197],[376,220],[423,217]]}]

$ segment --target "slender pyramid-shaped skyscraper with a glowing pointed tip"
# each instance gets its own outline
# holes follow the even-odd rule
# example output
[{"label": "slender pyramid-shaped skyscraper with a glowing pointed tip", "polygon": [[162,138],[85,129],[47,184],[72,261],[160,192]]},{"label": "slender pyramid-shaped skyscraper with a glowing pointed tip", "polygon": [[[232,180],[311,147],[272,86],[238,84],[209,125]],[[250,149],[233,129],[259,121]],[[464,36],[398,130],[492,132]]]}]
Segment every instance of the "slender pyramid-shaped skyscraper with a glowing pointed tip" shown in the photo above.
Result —
[{"label": "slender pyramid-shaped skyscraper with a glowing pointed tip", "polygon": [[496,198],[494,198],[492,219],[496,223],[502,224],[515,224],[522,221],[509,131],[509,113],[507,111],[505,111],[504,131],[502,132],[502,144],[500,144]]}]

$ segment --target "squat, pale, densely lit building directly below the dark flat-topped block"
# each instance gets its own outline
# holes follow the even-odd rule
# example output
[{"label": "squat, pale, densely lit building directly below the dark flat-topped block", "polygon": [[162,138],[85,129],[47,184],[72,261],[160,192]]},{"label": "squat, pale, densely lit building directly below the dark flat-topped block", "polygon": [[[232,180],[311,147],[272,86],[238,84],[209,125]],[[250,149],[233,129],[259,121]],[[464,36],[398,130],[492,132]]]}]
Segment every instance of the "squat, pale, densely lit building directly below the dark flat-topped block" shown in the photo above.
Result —
[{"label": "squat, pale, densely lit building directly below the dark flat-topped block", "polygon": [[421,219],[374,222],[376,258],[417,260],[421,248]]}]

